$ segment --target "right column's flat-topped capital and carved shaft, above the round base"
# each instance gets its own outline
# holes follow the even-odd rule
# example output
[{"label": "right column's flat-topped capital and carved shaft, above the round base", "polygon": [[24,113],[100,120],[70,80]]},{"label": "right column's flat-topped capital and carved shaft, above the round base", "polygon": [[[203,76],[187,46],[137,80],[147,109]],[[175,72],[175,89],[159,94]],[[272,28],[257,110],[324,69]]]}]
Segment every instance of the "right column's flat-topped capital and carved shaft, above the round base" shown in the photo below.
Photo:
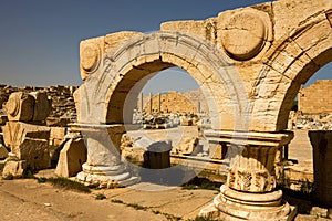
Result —
[{"label": "right column's flat-topped capital and carved shaft, above the round base", "polygon": [[208,130],[205,136],[209,141],[228,146],[229,188],[247,192],[267,192],[276,188],[274,159],[278,148],[288,144],[293,135]]}]

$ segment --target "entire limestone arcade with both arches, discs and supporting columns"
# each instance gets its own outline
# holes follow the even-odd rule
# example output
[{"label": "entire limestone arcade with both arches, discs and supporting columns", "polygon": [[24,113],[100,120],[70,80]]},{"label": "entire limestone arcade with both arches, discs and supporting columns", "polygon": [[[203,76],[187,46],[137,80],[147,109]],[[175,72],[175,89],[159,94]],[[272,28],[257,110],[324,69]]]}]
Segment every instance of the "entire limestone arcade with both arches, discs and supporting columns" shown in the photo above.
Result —
[{"label": "entire limestone arcade with both arches, discs and supporting columns", "polygon": [[131,180],[120,145],[107,137],[132,124],[138,93],[151,77],[179,66],[207,101],[206,138],[226,145],[232,161],[220,194],[200,214],[292,220],[294,210],[274,188],[274,159],[292,138],[282,130],[301,85],[331,62],[331,0],[279,0],[201,21],[165,22],[148,34],[123,31],[82,41],[84,83],[74,98],[89,154],[77,178],[107,186]]}]

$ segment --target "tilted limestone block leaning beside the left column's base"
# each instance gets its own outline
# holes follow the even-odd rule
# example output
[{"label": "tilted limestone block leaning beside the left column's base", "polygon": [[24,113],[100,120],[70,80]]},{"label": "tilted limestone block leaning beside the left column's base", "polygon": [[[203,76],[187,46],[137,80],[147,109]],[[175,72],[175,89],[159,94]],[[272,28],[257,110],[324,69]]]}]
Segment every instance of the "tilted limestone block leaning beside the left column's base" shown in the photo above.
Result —
[{"label": "tilted limestone block leaning beside the left column's base", "polygon": [[69,139],[60,157],[55,175],[60,177],[73,177],[82,170],[83,162],[86,161],[86,147],[82,138]]}]

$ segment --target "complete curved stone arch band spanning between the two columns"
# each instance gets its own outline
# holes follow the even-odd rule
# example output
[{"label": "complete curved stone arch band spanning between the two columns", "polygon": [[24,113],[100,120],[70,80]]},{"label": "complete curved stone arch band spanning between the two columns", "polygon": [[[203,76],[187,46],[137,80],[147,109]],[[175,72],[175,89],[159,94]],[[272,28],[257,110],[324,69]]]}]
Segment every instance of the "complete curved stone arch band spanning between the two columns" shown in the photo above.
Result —
[{"label": "complete curved stone arch band spanning between the two columns", "polygon": [[124,102],[129,96],[137,97],[154,75],[151,73],[179,66],[201,86],[214,128],[235,129],[242,126],[240,118],[247,110],[246,91],[236,69],[226,62],[225,56],[214,44],[194,35],[163,31],[135,34],[106,49],[98,71],[91,73],[79,88],[79,122],[125,123],[124,116],[131,113],[124,113]]}]

